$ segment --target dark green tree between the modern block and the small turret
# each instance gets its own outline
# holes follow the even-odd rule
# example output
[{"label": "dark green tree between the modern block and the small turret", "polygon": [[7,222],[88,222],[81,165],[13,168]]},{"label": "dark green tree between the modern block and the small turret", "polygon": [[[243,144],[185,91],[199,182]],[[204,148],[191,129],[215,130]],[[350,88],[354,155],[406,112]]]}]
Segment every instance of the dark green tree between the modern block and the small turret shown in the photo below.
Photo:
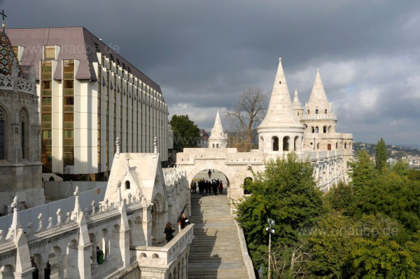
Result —
[{"label": "dark green tree between the modern block and the small turret", "polygon": [[174,130],[174,149],[182,152],[186,147],[198,147],[200,129],[188,115],[174,115],[169,123]]}]

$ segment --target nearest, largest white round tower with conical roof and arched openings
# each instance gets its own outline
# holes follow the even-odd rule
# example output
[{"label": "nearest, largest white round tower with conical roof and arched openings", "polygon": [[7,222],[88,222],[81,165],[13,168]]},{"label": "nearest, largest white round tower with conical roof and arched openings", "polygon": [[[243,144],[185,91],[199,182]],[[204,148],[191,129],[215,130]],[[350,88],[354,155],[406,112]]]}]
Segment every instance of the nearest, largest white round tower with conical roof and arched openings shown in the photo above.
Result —
[{"label": "nearest, largest white round tower with conical roof and arched openings", "polygon": [[304,127],[293,112],[281,58],[267,115],[258,126],[259,149],[264,153],[302,151]]}]

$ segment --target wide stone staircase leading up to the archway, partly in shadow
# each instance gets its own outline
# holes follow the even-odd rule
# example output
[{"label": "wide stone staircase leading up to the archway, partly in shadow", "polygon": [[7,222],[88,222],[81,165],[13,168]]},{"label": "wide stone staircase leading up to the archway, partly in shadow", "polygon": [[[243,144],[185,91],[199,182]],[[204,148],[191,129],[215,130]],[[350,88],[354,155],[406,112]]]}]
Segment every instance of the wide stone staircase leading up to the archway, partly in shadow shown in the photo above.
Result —
[{"label": "wide stone staircase leading up to the archway, partly in shadow", "polygon": [[248,278],[237,228],[227,196],[191,194],[194,240],[188,256],[188,278]]}]

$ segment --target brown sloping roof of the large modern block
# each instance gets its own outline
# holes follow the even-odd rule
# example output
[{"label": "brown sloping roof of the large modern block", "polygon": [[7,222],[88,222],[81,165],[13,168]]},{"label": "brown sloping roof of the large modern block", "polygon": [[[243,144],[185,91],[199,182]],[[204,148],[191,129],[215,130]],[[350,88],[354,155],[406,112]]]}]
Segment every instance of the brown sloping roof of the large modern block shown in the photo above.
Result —
[{"label": "brown sloping roof of the large modern block", "polygon": [[[43,59],[43,46],[61,46],[57,60],[79,60],[76,79],[90,79],[91,81],[97,81],[92,63],[99,62],[96,54],[97,49],[99,49],[110,60],[119,62],[121,67],[125,65],[125,69],[130,70],[131,74],[162,93],[158,83],[155,83],[84,27],[10,28],[6,30],[13,46],[24,46],[25,49],[31,50],[23,51],[21,64],[25,74],[29,73],[32,65],[34,65],[37,80],[39,79],[39,60]],[[62,79],[62,67],[56,67],[53,79]]]}]

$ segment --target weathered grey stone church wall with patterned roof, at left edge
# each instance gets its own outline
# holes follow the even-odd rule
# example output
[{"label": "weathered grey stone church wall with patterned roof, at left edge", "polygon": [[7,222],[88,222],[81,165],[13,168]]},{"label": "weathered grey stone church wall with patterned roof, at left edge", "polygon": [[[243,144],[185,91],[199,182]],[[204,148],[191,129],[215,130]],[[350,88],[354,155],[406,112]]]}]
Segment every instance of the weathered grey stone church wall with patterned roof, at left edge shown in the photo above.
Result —
[{"label": "weathered grey stone church wall with patterned roof, at left edge", "polygon": [[45,202],[41,179],[41,125],[34,70],[27,78],[3,29],[0,33],[0,214]]}]

